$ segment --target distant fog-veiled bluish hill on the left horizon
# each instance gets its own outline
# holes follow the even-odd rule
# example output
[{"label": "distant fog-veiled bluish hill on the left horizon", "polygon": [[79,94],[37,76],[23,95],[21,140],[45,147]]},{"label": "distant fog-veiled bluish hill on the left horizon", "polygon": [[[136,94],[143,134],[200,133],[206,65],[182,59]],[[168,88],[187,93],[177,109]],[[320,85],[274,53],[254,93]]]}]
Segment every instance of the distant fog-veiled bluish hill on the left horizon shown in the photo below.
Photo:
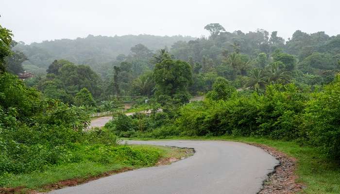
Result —
[{"label": "distant fog-veiled bluish hill on the left horizon", "polygon": [[[177,41],[189,41],[190,36],[123,35],[93,36],[86,38],[43,41],[30,45],[17,44],[16,50],[22,51],[29,63],[47,69],[55,59],[66,59],[75,64],[91,66],[115,60],[119,54],[129,54],[130,49],[143,44],[151,50],[171,47]],[[27,62],[25,62],[27,64]]]}]

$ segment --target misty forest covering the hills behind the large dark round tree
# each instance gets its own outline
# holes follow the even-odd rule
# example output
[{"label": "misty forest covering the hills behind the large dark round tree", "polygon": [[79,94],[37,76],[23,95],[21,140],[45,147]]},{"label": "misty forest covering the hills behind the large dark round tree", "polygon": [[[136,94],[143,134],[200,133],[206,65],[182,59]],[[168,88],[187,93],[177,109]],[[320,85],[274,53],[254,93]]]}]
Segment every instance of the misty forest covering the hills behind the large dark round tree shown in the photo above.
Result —
[{"label": "misty forest covering the hills behind the large dark round tree", "polygon": [[238,90],[258,94],[268,84],[314,88],[333,81],[340,69],[339,35],[296,31],[285,41],[278,32],[265,30],[226,32],[220,24],[209,24],[205,29],[211,35],[197,39],[127,35],[31,45],[13,42],[15,54],[8,59],[8,69],[15,74],[24,69],[36,73],[26,81],[29,86],[70,104],[82,88],[99,104],[110,95],[152,97],[156,91],[152,71],[164,58],[190,65],[191,95],[206,93],[218,78],[228,80]]}]

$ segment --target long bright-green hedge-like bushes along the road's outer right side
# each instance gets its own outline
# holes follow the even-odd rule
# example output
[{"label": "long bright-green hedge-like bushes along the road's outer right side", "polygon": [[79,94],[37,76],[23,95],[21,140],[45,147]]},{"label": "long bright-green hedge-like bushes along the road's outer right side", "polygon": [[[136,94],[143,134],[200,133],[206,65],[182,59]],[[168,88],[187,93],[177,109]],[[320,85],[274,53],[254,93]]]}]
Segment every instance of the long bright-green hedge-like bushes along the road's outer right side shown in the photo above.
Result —
[{"label": "long bright-green hedge-like bushes along the road's outer right side", "polygon": [[[226,100],[205,99],[180,109],[170,134],[262,136],[296,140],[340,158],[340,77],[312,95],[294,84],[268,85],[263,95],[234,95]],[[166,137],[167,130],[150,137]],[[168,130],[170,131],[170,130]]]}]

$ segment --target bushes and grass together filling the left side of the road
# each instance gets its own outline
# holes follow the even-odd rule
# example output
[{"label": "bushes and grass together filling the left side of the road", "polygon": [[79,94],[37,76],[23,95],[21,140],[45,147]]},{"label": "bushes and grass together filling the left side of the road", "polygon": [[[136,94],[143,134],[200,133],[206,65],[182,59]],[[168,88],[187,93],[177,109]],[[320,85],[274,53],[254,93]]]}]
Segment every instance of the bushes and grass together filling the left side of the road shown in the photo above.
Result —
[{"label": "bushes and grass together filling the left side of the road", "polygon": [[118,145],[111,132],[87,131],[89,107],[95,104],[90,91],[80,89],[75,104],[68,105],[28,87],[7,72],[4,59],[11,54],[12,34],[1,27],[0,33],[0,193],[8,188],[44,189],[60,180],[86,179],[186,156],[179,148]]}]

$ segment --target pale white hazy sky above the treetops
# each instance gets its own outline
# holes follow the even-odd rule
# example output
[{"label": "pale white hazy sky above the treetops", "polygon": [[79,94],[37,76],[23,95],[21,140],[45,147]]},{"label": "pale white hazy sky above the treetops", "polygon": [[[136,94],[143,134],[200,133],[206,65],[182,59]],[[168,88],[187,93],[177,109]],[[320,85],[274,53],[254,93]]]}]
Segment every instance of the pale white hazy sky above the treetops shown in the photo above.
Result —
[{"label": "pale white hazy sky above the treetops", "polygon": [[265,29],[287,39],[295,30],[340,32],[339,0],[4,0],[0,25],[25,43],[93,35],[208,35]]}]

